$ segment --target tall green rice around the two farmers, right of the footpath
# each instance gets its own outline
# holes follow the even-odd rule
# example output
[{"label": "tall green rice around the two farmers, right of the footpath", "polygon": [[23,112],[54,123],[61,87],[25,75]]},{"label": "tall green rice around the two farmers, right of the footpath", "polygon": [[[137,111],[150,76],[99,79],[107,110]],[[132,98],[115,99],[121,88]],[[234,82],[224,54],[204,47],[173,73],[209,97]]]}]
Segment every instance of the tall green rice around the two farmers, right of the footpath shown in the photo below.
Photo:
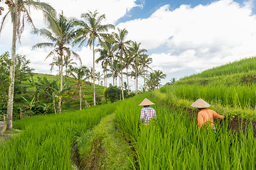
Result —
[{"label": "tall green rice around the two farmers, right of the footpath", "polygon": [[132,138],[138,169],[255,169],[252,128],[238,136],[228,130],[225,120],[215,123],[216,135],[211,130],[207,134],[206,129],[198,130],[196,118],[189,113],[156,105],[157,120],[138,132],[127,122],[138,122],[141,108],[135,104],[142,98],[124,101],[116,113],[119,126]]}]

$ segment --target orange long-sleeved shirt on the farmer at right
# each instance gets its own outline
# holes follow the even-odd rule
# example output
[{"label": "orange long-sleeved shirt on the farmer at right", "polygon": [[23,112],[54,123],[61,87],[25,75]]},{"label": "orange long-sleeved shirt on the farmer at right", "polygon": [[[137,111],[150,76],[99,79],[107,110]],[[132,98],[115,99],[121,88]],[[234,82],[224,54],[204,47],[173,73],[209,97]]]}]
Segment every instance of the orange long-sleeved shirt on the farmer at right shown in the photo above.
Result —
[{"label": "orange long-sleeved shirt on the farmer at right", "polygon": [[215,111],[212,111],[208,108],[203,108],[199,113],[198,113],[198,126],[200,128],[202,125],[209,125],[210,128],[215,128],[213,124],[213,120],[216,120],[220,118],[220,120],[223,119],[223,115],[219,115],[218,113],[215,113]]}]

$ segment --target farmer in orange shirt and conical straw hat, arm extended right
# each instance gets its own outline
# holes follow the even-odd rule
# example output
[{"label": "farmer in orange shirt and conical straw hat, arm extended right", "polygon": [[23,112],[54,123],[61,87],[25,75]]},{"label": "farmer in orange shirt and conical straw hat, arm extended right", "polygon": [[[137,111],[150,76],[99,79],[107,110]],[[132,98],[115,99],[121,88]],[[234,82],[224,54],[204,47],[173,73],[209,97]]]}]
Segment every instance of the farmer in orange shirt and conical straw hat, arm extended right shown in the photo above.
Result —
[{"label": "farmer in orange shirt and conical straw hat, arm extended right", "polygon": [[202,128],[202,125],[206,125],[207,129],[212,128],[213,132],[215,132],[215,125],[213,123],[213,120],[223,120],[225,118],[225,115],[219,115],[218,113],[215,113],[215,111],[212,111],[210,109],[208,109],[208,107],[210,107],[210,105],[208,103],[206,103],[206,101],[203,101],[202,98],[199,98],[197,101],[195,101],[191,107],[193,108],[198,108],[198,110],[200,111],[198,113],[198,126],[199,129]]}]

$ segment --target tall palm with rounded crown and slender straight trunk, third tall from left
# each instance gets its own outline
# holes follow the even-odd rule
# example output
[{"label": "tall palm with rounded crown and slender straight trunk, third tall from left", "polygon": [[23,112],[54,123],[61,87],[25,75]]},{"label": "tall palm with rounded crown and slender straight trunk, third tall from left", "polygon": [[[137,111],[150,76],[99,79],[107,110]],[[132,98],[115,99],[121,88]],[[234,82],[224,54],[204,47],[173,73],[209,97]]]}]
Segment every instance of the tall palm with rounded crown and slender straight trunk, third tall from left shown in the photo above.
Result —
[{"label": "tall palm with rounded crown and slender straight trunk, third tall from left", "polygon": [[101,41],[101,37],[105,35],[105,32],[109,28],[114,28],[112,24],[102,25],[102,21],[105,19],[105,14],[97,17],[97,11],[94,13],[82,13],[81,18],[84,18],[85,21],[77,21],[78,28],[76,38],[74,43],[80,42],[82,45],[83,42],[87,41],[87,45],[92,47],[93,55],[93,103],[96,106],[96,94],[95,94],[95,40]]}]

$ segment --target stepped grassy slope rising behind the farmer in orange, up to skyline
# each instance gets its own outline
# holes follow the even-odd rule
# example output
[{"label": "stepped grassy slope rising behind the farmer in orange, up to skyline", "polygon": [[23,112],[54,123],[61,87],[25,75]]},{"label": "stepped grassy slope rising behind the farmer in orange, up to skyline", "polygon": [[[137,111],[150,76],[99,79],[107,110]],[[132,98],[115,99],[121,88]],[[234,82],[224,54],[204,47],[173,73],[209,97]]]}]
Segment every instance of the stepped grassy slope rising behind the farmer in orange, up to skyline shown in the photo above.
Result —
[{"label": "stepped grassy slope rising behind the farmer in orange, up to skyline", "polygon": [[[161,92],[179,101],[173,103],[187,108],[203,98],[218,113],[255,118],[255,84],[256,58],[252,57],[186,77],[174,86],[164,86]],[[168,98],[170,103],[171,97]]]}]

